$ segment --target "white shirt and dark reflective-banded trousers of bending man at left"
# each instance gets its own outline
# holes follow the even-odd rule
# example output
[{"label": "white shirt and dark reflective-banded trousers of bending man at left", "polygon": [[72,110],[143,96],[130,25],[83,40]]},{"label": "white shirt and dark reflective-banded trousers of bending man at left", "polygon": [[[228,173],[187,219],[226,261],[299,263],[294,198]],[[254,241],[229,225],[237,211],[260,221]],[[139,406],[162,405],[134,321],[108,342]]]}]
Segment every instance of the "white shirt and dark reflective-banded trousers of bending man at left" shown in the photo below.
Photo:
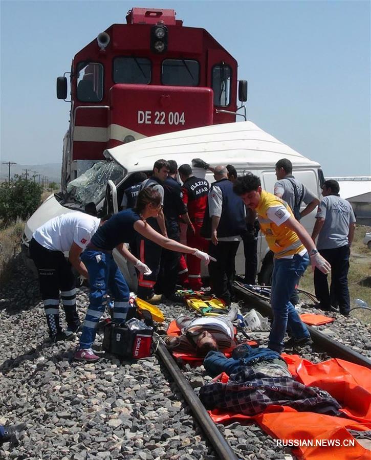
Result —
[{"label": "white shirt and dark reflective-banded trousers of bending man at left", "polygon": [[64,252],[73,243],[85,249],[98,230],[100,219],[83,212],[68,212],[39,227],[30,242],[30,255],[39,274],[40,292],[47,317],[49,334],[60,333],[59,291],[69,330],[74,332],[80,321],[76,312],[75,276]]}]

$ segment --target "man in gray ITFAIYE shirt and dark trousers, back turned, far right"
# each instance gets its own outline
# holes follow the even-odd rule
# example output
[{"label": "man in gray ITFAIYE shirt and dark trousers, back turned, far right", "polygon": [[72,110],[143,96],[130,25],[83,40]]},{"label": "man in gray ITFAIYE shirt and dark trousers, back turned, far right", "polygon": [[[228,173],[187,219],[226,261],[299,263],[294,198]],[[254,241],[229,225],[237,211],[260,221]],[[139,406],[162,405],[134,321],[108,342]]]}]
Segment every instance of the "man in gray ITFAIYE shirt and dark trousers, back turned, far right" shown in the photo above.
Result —
[{"label": "man in gray ITFAIYE shirt and dark trousers, back turned, far right", "polygon": [[[340,313],[348,316],[350,310],[349,255],[356,227],[356,217],[350,203],[340,198],[339,190],[337,181],[330,179],[323,184],[323,198],[318,206],[312,239],[315,241],[318,235],[319,253],[331,265],[331,293],[335,296]],[[314,290],[321,309],[331,310],[327,275],[317,269],[314,271]]]}]

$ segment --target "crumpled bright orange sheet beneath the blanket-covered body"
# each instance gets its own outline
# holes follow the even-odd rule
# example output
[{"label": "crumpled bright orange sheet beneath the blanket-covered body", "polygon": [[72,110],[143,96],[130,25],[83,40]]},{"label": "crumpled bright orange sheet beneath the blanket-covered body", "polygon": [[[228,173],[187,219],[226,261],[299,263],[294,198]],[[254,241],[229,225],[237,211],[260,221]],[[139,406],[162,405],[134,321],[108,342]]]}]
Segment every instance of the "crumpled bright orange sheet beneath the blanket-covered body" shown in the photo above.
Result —
[{"label": "crumpled bright orange sheet beneath the blanket-covered body", "polygon": [[[255,421],[266,433],[277,439],[296,442],[300,440],[304,445],[292,447],[293,453],[299,459],[371,458],[371,452],[358,444],[347,431],[347,429],[357,431],[371,429],[371,370],[341,359],[330,359],[313,364],[297,355],[283,353],[282,357],[296,380],[328,391],[343,405],[342,412],[353,420],[314,412],[297,412],[291,407],[277,405],[271,405],[264,412],[253,417],[215,409],[209,411],[212,420],[224,424]],[[214,380],[216,379],[226,382],[228,376],[223,373]],[[324,446],[324,443],[327,445]],[[330,443],[335,444],[330,445]]]}]

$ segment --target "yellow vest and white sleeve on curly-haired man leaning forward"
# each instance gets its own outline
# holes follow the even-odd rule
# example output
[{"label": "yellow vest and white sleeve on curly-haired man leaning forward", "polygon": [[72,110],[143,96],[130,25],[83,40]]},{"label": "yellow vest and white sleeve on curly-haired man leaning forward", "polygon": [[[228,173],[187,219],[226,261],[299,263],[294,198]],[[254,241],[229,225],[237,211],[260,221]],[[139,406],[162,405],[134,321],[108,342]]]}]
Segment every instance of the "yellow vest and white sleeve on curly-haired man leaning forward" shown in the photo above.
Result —
[{"label": "yellow vest and white sleeve on curly-haired man leaning forward", "polygon": [[[282,209],[282,206],[285,209]],[[307,251],[298,235],[281,224],[288,219],[288,213],[294,217],[290,206],[278,196],[261,191],[261,199],[256,208],[261,232],[264,233],[269,249],[274,257],[292,258],[294,254],[303,255]]]}]

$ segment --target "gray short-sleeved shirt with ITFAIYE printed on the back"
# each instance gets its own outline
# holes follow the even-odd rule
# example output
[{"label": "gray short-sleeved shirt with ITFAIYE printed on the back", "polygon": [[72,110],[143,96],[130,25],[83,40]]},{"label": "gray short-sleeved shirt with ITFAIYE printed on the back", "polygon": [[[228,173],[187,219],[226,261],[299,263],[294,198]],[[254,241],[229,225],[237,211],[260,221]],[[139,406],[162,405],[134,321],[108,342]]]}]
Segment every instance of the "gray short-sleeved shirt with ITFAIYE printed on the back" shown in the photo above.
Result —
[{"label": "gray short-sleeved shirt with ITFAIYE printed on the back", "polygon": [[335,249],[348,244],[349,227],[356,222],[349,202],[337,195],[324,196],[319,203],[317,217],[324,219],[318,235],[318,249]]}]

